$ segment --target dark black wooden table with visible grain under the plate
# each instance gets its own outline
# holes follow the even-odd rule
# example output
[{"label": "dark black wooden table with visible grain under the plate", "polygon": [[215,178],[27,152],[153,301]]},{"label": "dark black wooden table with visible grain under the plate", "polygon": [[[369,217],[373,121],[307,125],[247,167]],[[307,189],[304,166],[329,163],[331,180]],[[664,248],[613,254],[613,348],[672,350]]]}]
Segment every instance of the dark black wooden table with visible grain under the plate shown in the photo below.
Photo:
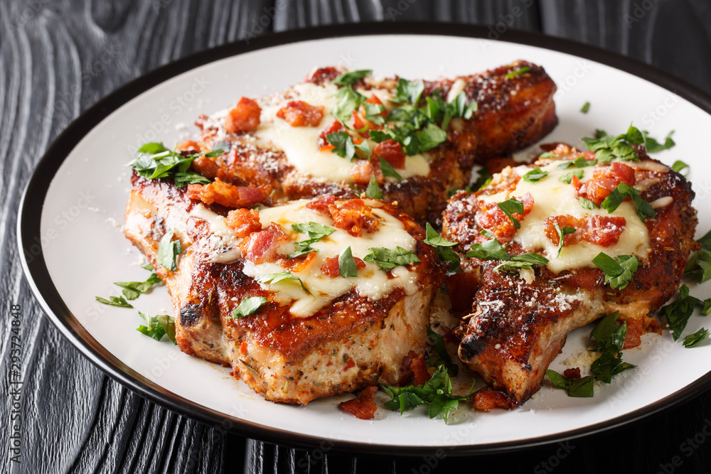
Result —
[{"label": "dark black wooden table with visible grain under the plate", "polygon": [[[257,21],[267,14],[267,26]],[[325,23],[427,20],[540,31],[643,60],[711,92],[707,0],[1,0],[0,472],[711,472],[711,393],[597,436],[476,458],[378,458],[273,446],[146,402],[43,317],[16,247],[21,190],[52,139],[124,82],[240,38]],[[700,148],[700,153],[704,149]],[[21,318],[20,463],[11,462],[11,305]],[[436,465],[436,466],[435,466]]]}]

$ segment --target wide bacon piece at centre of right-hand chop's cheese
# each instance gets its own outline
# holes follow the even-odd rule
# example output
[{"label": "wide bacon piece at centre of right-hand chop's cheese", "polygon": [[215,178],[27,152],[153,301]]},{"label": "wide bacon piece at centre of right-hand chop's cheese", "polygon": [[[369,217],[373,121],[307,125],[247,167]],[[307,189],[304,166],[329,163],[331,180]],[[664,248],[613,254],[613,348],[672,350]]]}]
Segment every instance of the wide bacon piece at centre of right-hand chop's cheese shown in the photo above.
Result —
[{"label": "wide bacon piece at centre of right-hand chop's cheese", "polygon": [[555,230],[555,227],[553,227],[555,222],[557,222],[560,228],[565,226],[577,229],[577,232],[563,237],[563,247],[577,244],[582,240],[586,240],[591,244],[600,245],[601,247],[611,247],[619,241],[627,224],[624,217],[601,215],[590,215],[583,219],[578,219],[572,215],[547,217],[547,219],[543,221],[543,230],[548,239],[556,245],[558,244],[558,232]]}]

